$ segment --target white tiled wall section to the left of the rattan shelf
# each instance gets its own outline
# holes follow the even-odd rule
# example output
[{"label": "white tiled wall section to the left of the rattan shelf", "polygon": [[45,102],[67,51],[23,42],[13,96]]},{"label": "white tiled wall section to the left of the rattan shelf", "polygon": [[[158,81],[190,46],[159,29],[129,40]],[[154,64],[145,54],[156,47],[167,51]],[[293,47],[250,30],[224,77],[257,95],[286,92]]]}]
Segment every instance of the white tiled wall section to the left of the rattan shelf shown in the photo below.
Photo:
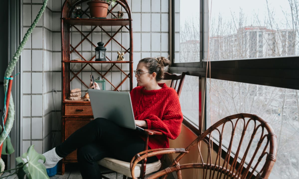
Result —
[{"label": "white tiled wall section to the left of the rattan shelf", "polygon": [[[42,7],[42,2],[42,0],[23,1],[23,36]],[[21,55],[23,71],[22,153],[26,152],[28,147],[33,144],[39,153],[49,149],[45,141],[51,137],[52,130],[51,118],[54,108],[51,93],[52,73],[55,72],[53,70],[60,73],[59,66],[61,66],[61,64],[56,65],[53,69],[52,13],[52,2],[48,1],[47,8],[36,24]],[[55,52],[55,55],[59,53],[60,50]],[[58,78],[58,80],[60,79]],[[57,96],[61,95],[57,94]]]}]

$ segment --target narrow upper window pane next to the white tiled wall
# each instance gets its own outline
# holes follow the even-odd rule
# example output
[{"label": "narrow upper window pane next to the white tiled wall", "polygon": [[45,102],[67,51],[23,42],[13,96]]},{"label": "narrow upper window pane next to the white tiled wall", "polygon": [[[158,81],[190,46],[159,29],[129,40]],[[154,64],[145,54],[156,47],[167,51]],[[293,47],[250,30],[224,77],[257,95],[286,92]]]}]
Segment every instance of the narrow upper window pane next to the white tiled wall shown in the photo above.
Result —
[{"label": "narrow upper window pane next to the white tiled wall", "polygon": [[[175,0],[174,63],[199,62],[199,0]],[[179,48],[177,48],[179,46]]]}]

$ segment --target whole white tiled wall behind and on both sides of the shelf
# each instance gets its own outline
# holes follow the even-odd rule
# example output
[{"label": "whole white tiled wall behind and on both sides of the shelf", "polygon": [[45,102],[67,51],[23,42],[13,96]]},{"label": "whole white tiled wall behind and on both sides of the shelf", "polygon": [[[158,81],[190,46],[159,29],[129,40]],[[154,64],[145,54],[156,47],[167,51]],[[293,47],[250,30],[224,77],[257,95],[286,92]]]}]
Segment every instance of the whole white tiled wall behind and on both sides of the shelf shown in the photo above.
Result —
[{"label": "whole white tiled wall behind and on both sides of the shelf", "polygon": [[[37,152],[45,152],[60,142],[60,118],[61,118],[61,34],[60,17],[64,0],[48,1],[43,17],[33,30],[29,41],[22,52],[22,153],[27,152],[30,145],[35,145]],[[133,69],[136,68],[141,58],[164,55],[168,56],[169,44],[169,4],[167,0],[128,0],[132,10],[133,19]],[[42,6],[42,0],[23,0],[23,35],[33,22],[36,14]],[[85,6],[85,4],[83,4]],[[117,11],[117,10],[116,10]],[[124,17],[127,16],[126,14]],[[90,26],[77,26],[87,35]],[[119,27],[105,27],[110,35],[113,35]],[[71,43],[81,41],[80,33],[72,28]],[[101,33],[99,27],[88,38],[97,44],[99,41],[107,41],[110,37]],[[122,29],[115,40],[120,41],[124,47],[129,47],[128,30]],[[124,51],[114,40],[107,46],[107,57],[116,58],[117,51]],[[90,42],[84,41],[77,47],[84,58],[90,59],[94,55],[94,47]],[[129,54],[125,56],[129,60]],[[72,53],[71,58],[81,58]],[[76,69],[81,68],[77,64]],[[106,71],[111,64],[92,64],[100,71]],[[122,64],[121,68],[128,72],[129,65]],[[81,79],[89,83],[91,67],[87,66],[80,73]],[[97,78],[97,73],[92,72]],[[120,83],[125,78],[116,67],[105,76],[112,83]],[[133,87],[137,85],[133,79]],[[74,79],[71,88],[87,90],[80,81]],[[113,88],[114,89],[114,88]],[[106,90],[113,90],[106,82]],[[129,80],[126,80],[120,90],[129,90]],[[85,93],[83,92],[83,95]],[[55,107],[54,107],[55,106]],[[56,110],[56,112],[55,112]],[[56,135],[55,135],[56,134]],[[54,144],[53,144],[54,141]]]}]

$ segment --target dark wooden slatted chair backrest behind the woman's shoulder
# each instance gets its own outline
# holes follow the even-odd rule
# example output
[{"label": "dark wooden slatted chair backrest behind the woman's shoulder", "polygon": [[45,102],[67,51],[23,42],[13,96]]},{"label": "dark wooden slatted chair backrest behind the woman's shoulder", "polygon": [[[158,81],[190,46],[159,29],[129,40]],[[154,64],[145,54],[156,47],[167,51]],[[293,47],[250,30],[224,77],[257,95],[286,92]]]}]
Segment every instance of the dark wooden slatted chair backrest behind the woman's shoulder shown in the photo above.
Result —
[{"label": "dark wooden slatted chair backrest behind the woman's shoulder", "polygon": [[183,72],[181,75],[164,72],[164,78],[161,80],[161,82],[164,82],[168,87],[174,88],[180,97],[185,75],[186,72]]}]

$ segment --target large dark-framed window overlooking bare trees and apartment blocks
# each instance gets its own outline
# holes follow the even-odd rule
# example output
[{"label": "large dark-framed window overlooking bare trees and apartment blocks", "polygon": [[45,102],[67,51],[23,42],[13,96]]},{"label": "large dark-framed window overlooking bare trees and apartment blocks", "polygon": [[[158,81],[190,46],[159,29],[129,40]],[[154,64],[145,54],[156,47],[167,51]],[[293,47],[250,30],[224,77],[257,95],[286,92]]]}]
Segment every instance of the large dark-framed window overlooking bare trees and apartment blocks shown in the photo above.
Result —
[{"label": "large dark-framed window overlooking bare trees and apartment blocks", "polygon": [[[211,78],[211,83],[207,81],[204,109],[206,126],[238,112],[260,115],[270,122],[277,135],[277,161],[271,174],[277,178],[298,178],[299,33],[296,22],[299,18],[294,14],[299,11],[299,2],[174,2],[171,29],[176,48],[173,49],[172,72],[185,71],[186,78],[190,75]],[[188,10],[184,9],[186,5]],[[202,13],[196,15],[196,11]],[[210,74],[206,72],[207,66]],[[195,93],[202,92],[197,84],[194,80],[184,83],[199,89],[198,93],[193,91],[195,98]],[[181,98],[183,95],[184,92]],[[211,101],[208,101],[209,95]],[[188,102],[181,103],[182,109]],[[183,113],[185,118],[194,116],[191,110]],[[192,120],[192,124],[201,124],[200,118],[199,123]]]}]

